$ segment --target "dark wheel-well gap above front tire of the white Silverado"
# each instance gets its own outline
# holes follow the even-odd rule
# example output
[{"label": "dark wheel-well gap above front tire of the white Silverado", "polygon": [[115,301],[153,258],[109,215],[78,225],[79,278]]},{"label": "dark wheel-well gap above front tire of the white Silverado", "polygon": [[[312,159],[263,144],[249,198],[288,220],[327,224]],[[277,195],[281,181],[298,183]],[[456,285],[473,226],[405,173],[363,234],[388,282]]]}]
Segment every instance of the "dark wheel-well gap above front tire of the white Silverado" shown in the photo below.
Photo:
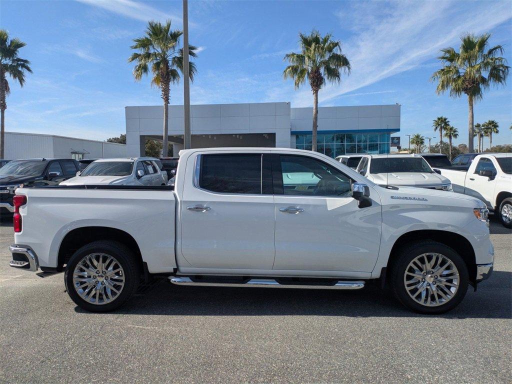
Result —
[{"label": "dark wheel-well gap above front tire of the white Silverado", "polygon": [[437,229],[421,229],[402,234],[391,249],[390,257],[386,267],[387,273],[392,269],[393,262],[397,260],[399,250],[407,244],[420,240],[432,240],[454,249],[464,260],[470,276],[470,282],[474,283],[476,278],[476,257],[475,250],[470,241],[461,234]]}]

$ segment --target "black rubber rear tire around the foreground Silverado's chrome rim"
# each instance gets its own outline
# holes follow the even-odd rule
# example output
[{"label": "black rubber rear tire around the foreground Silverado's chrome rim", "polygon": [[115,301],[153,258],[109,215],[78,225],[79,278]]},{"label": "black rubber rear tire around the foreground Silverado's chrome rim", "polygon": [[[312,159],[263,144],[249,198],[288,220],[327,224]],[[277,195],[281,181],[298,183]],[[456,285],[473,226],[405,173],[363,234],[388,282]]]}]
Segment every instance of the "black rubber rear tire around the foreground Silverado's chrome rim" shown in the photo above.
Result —
[{"label": "black rubber rear tire around the foreground Silverado's chrome rim", "polygon": [[[94,304],[84,300],[75,289],[73,285],[73,272],[77,264],[87,255],[92,253],[104,253],[115,258],[124,271],[124,286],[122,290],[110,303]],[[140,268],[135,260],[135,256],[130,248],[124,244],[110,241],[99,240],[78,249],[71,259],[69,260],[64,273],[64,283],[71,300],[73,300],[80,308],[90,312],[109,312],[113,311],[124,303],[132,296],[137,290],[140,282]]]}]

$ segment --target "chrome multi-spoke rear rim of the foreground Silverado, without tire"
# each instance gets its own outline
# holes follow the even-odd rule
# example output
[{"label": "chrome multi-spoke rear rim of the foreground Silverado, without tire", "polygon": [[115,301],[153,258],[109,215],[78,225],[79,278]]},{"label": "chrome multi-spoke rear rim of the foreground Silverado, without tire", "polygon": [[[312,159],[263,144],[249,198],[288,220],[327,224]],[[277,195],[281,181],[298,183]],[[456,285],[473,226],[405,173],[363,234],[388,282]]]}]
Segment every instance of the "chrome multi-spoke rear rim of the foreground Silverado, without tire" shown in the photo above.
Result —
[{"label": "chrome multi-spoke rear rim of the foreground Silverado, without tire", "polygon": [[76,265],[73,271],[73,287],[88,303],[108,304],[116,300],[123,290],[124,270],[112,256],[91,253]]}]

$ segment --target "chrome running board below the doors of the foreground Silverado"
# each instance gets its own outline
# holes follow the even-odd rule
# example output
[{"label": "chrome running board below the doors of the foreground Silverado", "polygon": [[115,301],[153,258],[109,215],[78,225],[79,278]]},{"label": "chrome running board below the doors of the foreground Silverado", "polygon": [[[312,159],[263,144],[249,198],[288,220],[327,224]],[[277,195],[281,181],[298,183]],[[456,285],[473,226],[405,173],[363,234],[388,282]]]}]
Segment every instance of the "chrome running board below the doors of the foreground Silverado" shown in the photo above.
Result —
[{"label": "chrome running board below the doors of the foreground Silverado", "polygon": [[299,288],[299,289],[361,289],[365,287],[364,281],[340,280],[333,285],[306,285],[306,284],[279,284],[273,279],[251,279],[246,283],[223,282],[195,282],[189,278],[169,276],[171,283],[188,286],[207,287],[262,287],[262,288]]}]

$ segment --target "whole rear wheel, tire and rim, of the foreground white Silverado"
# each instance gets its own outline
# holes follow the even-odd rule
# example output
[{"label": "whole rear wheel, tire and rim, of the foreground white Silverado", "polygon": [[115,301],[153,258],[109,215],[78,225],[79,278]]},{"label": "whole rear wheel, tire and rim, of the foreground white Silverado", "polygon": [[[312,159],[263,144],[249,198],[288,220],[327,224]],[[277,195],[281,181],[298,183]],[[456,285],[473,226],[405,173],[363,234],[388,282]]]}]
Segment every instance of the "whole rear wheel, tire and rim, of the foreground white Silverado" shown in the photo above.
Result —
[{"label": "whole rear wheel, tire and rim, of the foreground white Silverado", "polygon": [[140,281],[133,252],[115,241],[95,241],[78,249],[69,260],[64,281],[71,300],[91,312],[119,308]]}]

